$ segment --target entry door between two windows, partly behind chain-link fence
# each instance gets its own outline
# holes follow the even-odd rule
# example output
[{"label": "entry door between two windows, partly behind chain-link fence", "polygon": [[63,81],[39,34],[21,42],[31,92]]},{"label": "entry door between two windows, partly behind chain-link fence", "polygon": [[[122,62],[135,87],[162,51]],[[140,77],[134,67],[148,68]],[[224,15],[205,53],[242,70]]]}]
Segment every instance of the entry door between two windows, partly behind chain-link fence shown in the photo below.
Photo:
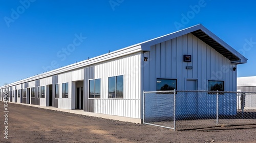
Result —
[{"label": "entry door between two windows, partly behind chain-link fence", "polygon": [[[186,90],[197,90],[197,80],[187,80]],[[187,114],[197,114],[197,92],[186,92]]]}]

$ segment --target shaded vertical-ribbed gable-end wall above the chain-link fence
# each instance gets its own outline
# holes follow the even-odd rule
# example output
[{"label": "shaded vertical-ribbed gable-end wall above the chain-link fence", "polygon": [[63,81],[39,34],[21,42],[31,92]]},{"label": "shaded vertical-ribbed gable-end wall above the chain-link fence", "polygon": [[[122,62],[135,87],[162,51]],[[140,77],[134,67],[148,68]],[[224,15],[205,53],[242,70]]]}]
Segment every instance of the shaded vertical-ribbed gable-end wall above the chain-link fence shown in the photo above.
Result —
[{"label": "shaded vertical-ribbed gable-end wall above the chain-link fence", "polygon": [[[191,55],[191,62],[183,62],[183,55]],[[153,45],[144,57],[145,91],[156,90],[157,78],[177,79],[178,90],[186,90],[186,79],[196,79],[199,90],[207,90],[208,80],[224,81],[225,90],[237,90],[237,71],[231,70],[236,65],[193,34]]]}]

